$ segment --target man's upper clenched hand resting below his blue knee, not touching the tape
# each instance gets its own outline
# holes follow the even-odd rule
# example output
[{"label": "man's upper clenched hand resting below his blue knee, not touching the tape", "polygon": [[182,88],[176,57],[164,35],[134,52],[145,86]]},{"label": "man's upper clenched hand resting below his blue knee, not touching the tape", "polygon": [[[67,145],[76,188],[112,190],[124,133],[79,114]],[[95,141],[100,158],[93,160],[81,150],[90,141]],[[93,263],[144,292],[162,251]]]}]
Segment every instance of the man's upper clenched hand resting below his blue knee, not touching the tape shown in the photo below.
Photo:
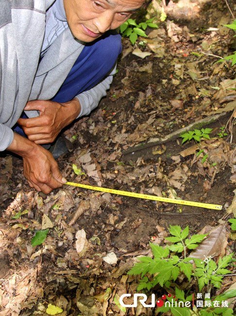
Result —
[{"label": "man's upper clenched hand resting below his blue knee, not touching the tape", "polygon": [[18,120],[29,140],[36,144],[53,142],[60,131],[73,122],[81,111],[78,99],[66,103],[29,101],[25,110],[38,110],[38,117]]}]

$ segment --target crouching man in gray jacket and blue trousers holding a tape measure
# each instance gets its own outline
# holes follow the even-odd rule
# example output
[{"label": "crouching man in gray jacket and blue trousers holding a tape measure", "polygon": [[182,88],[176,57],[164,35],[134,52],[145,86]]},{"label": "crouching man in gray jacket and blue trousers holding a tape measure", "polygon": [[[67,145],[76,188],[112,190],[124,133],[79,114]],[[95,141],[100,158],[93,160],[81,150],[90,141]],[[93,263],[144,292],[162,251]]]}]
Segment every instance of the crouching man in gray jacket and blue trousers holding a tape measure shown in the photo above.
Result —
[{"label": "crouching man in gray jacket and blue trousers holding a tape measure", "polygon": [[[50,193],[66,183],[40,144],[98,105],[120,53],[119,35],[109,32],[145,2],[1,0],[0,151],[23,158],[36,190]],[[12,131],[17,122],[28,138]]]}]

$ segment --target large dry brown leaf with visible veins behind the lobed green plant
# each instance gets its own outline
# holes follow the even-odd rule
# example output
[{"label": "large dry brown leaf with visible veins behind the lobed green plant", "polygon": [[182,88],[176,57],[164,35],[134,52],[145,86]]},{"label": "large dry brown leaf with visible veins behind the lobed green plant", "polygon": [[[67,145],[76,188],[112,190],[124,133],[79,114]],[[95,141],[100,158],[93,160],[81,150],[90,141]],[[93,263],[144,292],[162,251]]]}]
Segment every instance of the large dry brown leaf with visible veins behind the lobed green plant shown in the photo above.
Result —
[{"label": "large dry brown leaf with visible veins behind the lobed green plant", "polygon": [[189,257],[203,260],[205,257],[211,256],[213,258],[218,256],[222,251],[222,246],[224,246],[225,233],[226,230],[223,225],[213,228],[209,235],[202,241],[202,244],[190,253]]}]

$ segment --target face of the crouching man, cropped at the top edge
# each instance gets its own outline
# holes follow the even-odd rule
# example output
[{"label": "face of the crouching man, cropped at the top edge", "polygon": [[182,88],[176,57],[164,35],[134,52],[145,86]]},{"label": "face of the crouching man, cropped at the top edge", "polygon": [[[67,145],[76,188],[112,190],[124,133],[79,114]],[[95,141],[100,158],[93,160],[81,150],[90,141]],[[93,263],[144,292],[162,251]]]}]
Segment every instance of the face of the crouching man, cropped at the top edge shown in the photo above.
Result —
[{"label": "face of the crouching man, cropped at the top edge", "polygon": [[67,22],[72,34],[92,42],[108,30],[115,30],[145,0],[64,0]]}]

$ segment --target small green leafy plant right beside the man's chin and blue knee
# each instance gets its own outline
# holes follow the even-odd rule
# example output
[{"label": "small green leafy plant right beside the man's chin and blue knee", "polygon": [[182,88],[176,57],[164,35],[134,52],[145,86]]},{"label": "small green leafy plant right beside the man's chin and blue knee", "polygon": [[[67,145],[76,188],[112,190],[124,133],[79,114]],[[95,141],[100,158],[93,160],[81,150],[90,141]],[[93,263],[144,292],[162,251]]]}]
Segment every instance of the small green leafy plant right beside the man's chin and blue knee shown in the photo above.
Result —
[{"label": "small green leafy plant right beside the man's chin and blue knee", "polygon": [[153,23],[154,18],[150,18],[145,22],[136,23],[135,19],[129,18],[120,26],[120,33],[124,37],[129,37],[131,43],[134,45],[138,36],[147,37],[145,30],[147,27],[158,28],[156,23]]}]

